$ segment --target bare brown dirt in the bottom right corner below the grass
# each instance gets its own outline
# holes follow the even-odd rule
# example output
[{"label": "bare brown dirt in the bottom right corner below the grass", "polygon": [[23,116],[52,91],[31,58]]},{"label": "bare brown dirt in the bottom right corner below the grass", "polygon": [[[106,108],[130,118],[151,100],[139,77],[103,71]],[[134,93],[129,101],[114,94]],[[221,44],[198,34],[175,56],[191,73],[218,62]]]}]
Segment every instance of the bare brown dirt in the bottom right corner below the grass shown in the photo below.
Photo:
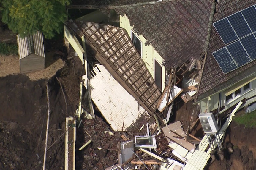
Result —
[{"label": "bare brown dirt in the bottom right corner below the grass", "polygon": [[245,128],[238,126],[234,121],[227,129],[224,147],[233,146],[234,153],[228,154],[226,151],[225,160],[216,160],[209,170],[255,170],[256,169],[256,148],[255,148],[255,128]]}]

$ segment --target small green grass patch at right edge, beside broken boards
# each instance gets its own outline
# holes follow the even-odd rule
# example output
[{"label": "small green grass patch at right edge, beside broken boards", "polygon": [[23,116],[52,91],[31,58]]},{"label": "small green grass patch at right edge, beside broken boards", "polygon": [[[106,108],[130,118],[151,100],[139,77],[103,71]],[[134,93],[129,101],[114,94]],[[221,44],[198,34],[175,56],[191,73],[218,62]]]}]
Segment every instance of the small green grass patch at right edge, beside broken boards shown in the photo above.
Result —
[{"label": "small green grass patch at right edge, beside broken boards", "polygon": [[252,113],[242,112],[234,116],[234,121],[239,125],[244,125],[245,127],[256,127],[256,111]]}]

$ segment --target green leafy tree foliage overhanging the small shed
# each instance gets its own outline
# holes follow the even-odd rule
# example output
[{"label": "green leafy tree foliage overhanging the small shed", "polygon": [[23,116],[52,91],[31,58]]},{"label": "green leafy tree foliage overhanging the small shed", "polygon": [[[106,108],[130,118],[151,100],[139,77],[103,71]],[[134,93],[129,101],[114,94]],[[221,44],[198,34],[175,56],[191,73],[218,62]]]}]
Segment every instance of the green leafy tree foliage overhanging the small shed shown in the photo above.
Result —
[{"label": "green leafy tree foliage overhanging the small shed", "polygon": [[67,20],[66,5],[70,0],[0,0],[2,21],[10,30],[25,36],[41,31],[45,38],[53,38],[63,30]]}]

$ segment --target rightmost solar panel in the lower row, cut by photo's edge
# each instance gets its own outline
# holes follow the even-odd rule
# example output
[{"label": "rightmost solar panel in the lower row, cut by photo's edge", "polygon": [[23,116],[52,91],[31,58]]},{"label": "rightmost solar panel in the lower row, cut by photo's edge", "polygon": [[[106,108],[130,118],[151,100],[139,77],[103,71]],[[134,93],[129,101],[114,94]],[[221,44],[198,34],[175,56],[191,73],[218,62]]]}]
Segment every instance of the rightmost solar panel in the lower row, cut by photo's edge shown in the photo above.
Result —
[{"label": "rightmost solar panel in the lower row, cut by photo's edge", "polygon": [[249,54],[249,57],[252,60],[255,60],[256,59],[256,39],[253,36],[253,34],[242,38],[240,41],[243,44],[247,53]]}]

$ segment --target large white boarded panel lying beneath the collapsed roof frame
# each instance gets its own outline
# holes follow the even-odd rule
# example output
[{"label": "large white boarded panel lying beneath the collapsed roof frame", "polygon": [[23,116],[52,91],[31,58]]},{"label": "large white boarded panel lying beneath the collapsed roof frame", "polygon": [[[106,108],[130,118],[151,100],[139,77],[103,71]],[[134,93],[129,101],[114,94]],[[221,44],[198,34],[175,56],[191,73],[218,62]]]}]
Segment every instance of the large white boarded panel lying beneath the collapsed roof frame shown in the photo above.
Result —
[{"label": "large white boarded panel lying beneath the collapsed roof frame", "polygon": [[96,75],[90,80],[91,98],[113,130],[125,130],[145,113],[145,109],[139,106],[104,66],[97,64],[97,67],[94,68]]}]

